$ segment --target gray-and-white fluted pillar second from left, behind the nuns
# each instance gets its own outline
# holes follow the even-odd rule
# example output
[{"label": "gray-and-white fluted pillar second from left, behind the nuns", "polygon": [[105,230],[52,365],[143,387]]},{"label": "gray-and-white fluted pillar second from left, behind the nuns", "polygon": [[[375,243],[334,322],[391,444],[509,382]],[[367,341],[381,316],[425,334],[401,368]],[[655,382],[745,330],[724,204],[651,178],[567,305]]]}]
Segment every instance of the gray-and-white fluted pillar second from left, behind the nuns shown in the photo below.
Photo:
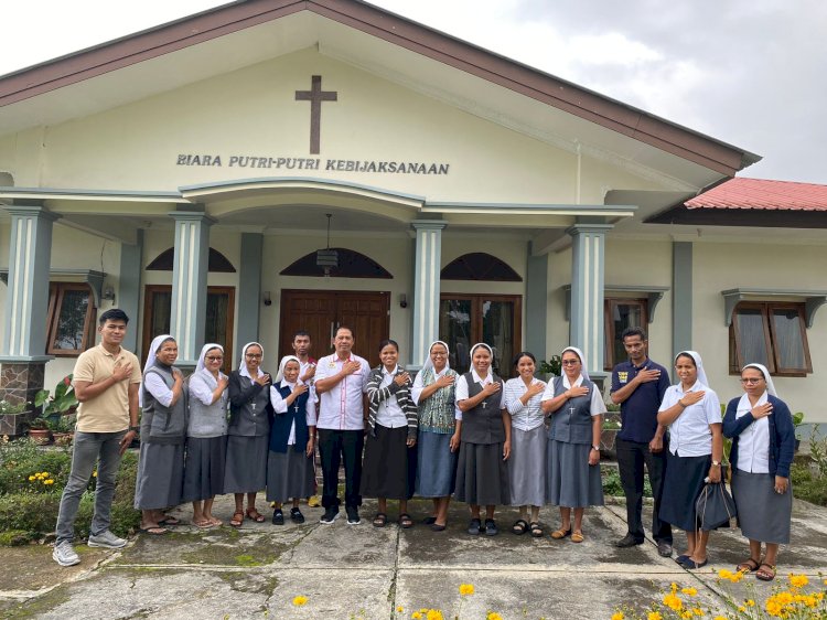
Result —
[{"label": "gray-and-white fluted pillar second from left, behind the nuns", "polygon": [[210,226],[203,212],[175,211],[175,263],[172,268],[170,332],[178,341],[175,365],[194,367],[204,345]]}]

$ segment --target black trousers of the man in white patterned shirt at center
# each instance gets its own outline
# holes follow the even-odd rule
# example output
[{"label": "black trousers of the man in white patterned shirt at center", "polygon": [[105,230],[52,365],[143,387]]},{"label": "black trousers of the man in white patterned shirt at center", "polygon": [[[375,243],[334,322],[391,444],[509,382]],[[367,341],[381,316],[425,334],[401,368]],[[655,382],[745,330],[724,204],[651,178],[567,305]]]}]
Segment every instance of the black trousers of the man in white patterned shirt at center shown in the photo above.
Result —
[{"label": "black trousers of the man in white patterned shirt at center", "polygon": [[345,466],[345,506],[361,506],[363,430],[319,429],[319,455],[322,461],[322,505],[339,506],[339,466]]}]

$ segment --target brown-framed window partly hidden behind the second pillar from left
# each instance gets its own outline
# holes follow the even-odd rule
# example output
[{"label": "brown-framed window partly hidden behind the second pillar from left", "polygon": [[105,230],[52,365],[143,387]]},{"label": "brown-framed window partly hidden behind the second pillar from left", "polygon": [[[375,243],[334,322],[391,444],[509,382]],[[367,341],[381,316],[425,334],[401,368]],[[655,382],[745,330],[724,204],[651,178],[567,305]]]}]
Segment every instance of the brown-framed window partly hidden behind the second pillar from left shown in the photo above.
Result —
[{"label": "brown-framed window partly hidden behind the second pillar from left", "polygon": [[[204,322],[204,342],[217,342],[224,346],[225,373],[233,370],[233,324],[235,320],[235,289],[233,287],[207,287],[207,307]],[[152,339],[170,333],[172,312],[172,287],[148,285],[143,293],[143,333],[141,338],[141,364],[146,362]]]}]

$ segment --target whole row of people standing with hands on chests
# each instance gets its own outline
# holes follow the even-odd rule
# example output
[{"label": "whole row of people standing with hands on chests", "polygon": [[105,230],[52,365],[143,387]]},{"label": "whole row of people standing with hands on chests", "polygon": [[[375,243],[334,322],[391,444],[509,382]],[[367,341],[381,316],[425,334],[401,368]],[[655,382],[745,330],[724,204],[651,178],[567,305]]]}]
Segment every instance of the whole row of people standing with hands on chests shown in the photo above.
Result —
[{"label": "whole row of people standing with hands on chests", "polygon": [[[353,353],[353,331],[340,327],[334,353],[318,362],[309,355],[309,334],[298,332],[296,355],[281,359],[275,378],[261,368],[264,348],[251,342],[229,376],[221,371],[224,349],[204,345],[185,380],[174,366],[178,346],[168,334],[152,341],[141,375],[135,355],[120,346],[127,322],[120,310],[101,314],[101,343],[83,353],[75,368],[82,406],[53,554],[62,566],[79,562],[71,544],[74,517],[98,457],[89,545],[126,544],[108,530],[109,504],[120,455],[138,430],[135,505],[141,510],[141,531],[154,535],[178,522],[164,511],[182,502],[192,502],[194,525],[222,524],[212,507],[223,493],[235,496],[230,525],[239,527],[245,519],[264,522],[256,507],[264,489],[273,524],[284,523],[287,502],[289,519],[304,522],[300,500],[316,492],[316,446],[323,524],[340,514],[342,462],[351,525],[361,523],[359,506],[367,496],[377,500],[375,527],[387,525],[389,500],[399,502],[399,526],[412,527],[408,500],[417,494],[432,500],[425,523],[442,532],[453,496],[469,504],[469,534],[498,534],[496,506],[512,505],[519,507],[512,532],[541,537],[539,511],[552,504],[559,506],[560,523],[551,537],[581,543],[584,509],[603,504],[600,437],[606,408],[577,348],[562,351],[561,376],[545,383],[535,376],[530,352],[515,356],[516,376],[503,381],[492,368],[487,344],[471,349],[471,370],[460,375],[450,367],[448,344],[437,341],[412,377],[399,365],[395,341],[380,343],[380,364],[370,368]],[[626,330],[623,343],[629,361],[614,368],[611,387],[612,400],[621,405],[616,450],[629,523],[617,546],[644,541],[645,464],[658,552],[672,556],[674,525],[687,533],[687,549],[677,562],[690,569],[707,564],[709,532],[698,528],[695,502],[706,481],[721,480],[726,435],[733,438],[732,489],[750,539],[750,557],[738,568],[772,579],[778,544],[790,538],[794,437],[792,416],[769,372],[748,364],[741,376],[744,395],[729,403],[722,418],[700,355],[685,351],[676,356],[679,383],[670,386],[666,368],[647,356],[643,330]]]}]

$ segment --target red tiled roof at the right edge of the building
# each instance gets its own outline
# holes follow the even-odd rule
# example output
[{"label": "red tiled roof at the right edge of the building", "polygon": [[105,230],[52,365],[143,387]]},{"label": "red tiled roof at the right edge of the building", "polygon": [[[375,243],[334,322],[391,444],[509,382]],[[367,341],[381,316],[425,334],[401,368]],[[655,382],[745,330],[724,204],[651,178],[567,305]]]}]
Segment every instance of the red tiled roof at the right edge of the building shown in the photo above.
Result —
[{"label": "red tiled roof at the right edge of the building", "polygon": [[684,204],[688,209],[827,211],[827,185],[735,178]]}]

